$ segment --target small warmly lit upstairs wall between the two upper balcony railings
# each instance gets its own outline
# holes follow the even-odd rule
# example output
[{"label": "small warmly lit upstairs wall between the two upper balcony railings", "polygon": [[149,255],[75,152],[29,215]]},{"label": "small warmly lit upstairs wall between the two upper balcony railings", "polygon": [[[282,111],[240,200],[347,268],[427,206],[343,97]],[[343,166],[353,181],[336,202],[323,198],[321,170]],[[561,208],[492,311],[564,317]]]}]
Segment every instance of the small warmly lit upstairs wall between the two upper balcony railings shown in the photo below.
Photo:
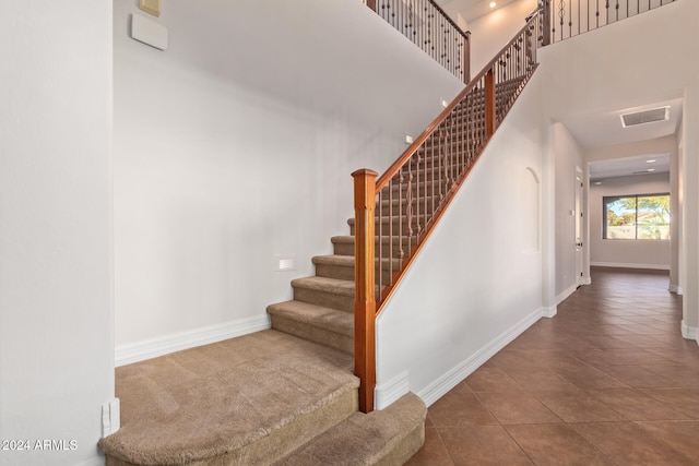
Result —
[{"label": "small warmly lit upstairs wall between the two upper balcony railings", "polygon": [[519,0],[466,24],[471,32],[471,75],[481,70],[526,24],[536,0]]}]

